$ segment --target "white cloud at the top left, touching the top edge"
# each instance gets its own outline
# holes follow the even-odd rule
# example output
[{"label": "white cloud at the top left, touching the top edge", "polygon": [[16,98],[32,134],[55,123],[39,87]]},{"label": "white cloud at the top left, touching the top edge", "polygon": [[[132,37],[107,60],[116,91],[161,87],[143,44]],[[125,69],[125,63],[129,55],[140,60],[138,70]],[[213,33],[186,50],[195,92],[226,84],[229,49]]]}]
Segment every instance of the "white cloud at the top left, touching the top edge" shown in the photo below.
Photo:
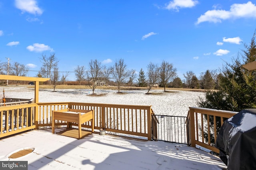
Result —
[{"label": "white cloud at the top left, touching the top edge", "polygon": [[43,13],[38,7],[36,0],[15,0],[15,6],[20,9],[22,13],[28,12],[34,15],[41,15]]}]

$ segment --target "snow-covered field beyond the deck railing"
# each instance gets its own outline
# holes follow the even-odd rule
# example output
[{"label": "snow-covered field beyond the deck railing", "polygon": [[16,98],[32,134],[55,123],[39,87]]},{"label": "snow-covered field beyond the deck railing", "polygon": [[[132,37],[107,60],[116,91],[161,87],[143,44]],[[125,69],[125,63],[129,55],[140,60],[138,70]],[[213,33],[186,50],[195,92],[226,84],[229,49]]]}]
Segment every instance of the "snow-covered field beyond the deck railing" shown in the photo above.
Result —
[{"label": "snow-covered field beyond the deck railing", "polygon": [[[4,86],[6,98],[34,98],[34,88],[27,86]],[[146,95],[147,90],[101,90],[96,88],[92,94],[88,89],[40,89],[39,102],[90,102],[106,104],[151,105],[155,114],[187,116],[188,107],[197,107],[199,96],[204,98],[203,92],[185,92],[150,90],[151,95]],[[1,93],[0,93],[1,94]]]}]

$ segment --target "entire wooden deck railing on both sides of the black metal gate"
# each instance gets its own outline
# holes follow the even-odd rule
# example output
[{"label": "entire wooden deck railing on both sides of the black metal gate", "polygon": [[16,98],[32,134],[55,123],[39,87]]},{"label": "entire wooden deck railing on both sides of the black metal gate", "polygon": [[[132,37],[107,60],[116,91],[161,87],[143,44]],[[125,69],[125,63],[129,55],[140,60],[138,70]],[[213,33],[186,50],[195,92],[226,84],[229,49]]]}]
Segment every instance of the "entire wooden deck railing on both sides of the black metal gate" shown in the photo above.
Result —
[{"label": "entire wooden deck railing on both sides of the black metal gate", "polygon": [[[76,102],[55,102],[22,104],[0,107],[0,138],[20,133],[38,127],[52,126],[52,111],[60,109],[94,109],[94,128],[106,127],[109,133],[136,135],[152,139],[152,128],[158,120],[155,120],[151,106],[96,104]],[[188,143],[192,147],[196,145],[219,152],[214,147],[218,130],[223,121],[237,112],[189,107]],[[152,120],[153,119],[153,120]],[[152,123],[153,121],[153,123]],[[86,122],[82,127],[90,128],[91,122]],[[64,121],[58,121],[55,125],[66,125]],[[76,126],[75,123],[72,125]],[[154,137],[153,137],[154,138]]]}]

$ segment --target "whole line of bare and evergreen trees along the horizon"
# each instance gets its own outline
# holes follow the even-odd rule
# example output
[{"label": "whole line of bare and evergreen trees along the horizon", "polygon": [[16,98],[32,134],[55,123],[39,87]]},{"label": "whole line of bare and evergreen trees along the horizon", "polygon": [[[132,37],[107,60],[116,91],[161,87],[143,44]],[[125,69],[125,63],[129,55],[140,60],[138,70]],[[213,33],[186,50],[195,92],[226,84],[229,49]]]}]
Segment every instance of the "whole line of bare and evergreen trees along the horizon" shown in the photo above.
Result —
[{"label": "whole line of bare and evergreen trees along the horizon", "polygon": [[[70,72],[65,74],[58,71],[58,62],[55,53],[50,56],[42,55],[40,58],[42,66],[36,74],[36,77],[50,78],[49,84],[55,87],[58,84],[65,84],[69,80],[67,79]],[[2,63],[0,66],[0,74],[8,74],[15,76],[26,76],[29,72],[29,68],[24,64],[14,63]],[[194,88],[194,89],[218,89],[217,85],[217,72],[216,70],[206,70],[201,72],[200,77],[197,78],[193,71],[187,71],[184,76],[184,80],[177,76],[177,69],[174,68],[172,63],[162,61],[160,65],[150,62],[147,65],[146,75],[144,70],[141,68],[137,75],[136,70],[127,69],[127,65],[124,63],[124,59],[117,59],[113,66],[107,67],[97,60],[90,60],[88,64],[88,70],[86,66],[78,65],[74,69],[76,81],[78,85],[89,85],[94,90],[96,88],[96,81],[98,78],[104,78],[106,85],[118,86],[118,92],[120,92],[120,86],[137,86],[137,87],[148,87],[148,92],[156,84],[159,87],[163,87],[166,91],[166,87],[172,88]],[[69,81],[70,82],[70,81]],[[73,82],[73,81],[71,81]],[[84,83],[87,82],[87,83]],[[3,84],[4,82],[2,82]],[[18,81],[16,81],[18,85]]]}]

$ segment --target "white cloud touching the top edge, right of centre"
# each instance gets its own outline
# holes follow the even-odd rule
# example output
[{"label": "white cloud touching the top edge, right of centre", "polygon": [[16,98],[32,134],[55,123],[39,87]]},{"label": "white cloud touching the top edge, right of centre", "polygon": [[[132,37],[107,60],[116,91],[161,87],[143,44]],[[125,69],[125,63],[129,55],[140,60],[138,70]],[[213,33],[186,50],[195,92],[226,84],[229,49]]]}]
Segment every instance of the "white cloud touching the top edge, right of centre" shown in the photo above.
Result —
[{"label": "white cloud touching the top edge, right of centre", "polygon": [[165,8],[178,12],[180,8],[192,8],[196,4],[198,4],[197,0],[172,0],[168,4],[165,4]]}]

